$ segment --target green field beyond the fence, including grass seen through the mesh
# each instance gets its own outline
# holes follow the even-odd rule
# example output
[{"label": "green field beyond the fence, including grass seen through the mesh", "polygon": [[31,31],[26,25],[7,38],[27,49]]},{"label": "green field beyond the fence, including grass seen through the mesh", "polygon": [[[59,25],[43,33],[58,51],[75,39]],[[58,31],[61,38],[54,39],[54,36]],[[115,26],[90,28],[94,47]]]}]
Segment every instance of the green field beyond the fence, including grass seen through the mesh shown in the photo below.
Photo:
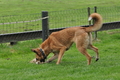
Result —
[{"label": "green field beyond the fence, including grass seen through the mesh", "polygon": [[[30,21],[41,18],[42,11],[49,12],[49,27],[61,28],[88,25],[87,8],[98,7],[103,22],[119,21],[118,0],[1,0],[0,23]],[[12,16],[10,16],[12,15]],[[29,23],[0,25],[0,34],[41,30],[41,20]]]}]

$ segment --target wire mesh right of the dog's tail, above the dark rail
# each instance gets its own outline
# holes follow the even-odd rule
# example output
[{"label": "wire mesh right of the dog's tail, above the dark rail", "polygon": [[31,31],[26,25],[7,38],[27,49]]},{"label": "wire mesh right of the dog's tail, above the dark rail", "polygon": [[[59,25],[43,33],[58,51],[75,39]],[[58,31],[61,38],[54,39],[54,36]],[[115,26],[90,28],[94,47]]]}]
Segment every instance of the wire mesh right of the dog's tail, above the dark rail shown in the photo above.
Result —
[{"label": "wire mesh right of the dog's tail, above the dark rail", "polygon": [[98,7],[97,12],[102,15],[104,23],[120,21],[120,6]]}]

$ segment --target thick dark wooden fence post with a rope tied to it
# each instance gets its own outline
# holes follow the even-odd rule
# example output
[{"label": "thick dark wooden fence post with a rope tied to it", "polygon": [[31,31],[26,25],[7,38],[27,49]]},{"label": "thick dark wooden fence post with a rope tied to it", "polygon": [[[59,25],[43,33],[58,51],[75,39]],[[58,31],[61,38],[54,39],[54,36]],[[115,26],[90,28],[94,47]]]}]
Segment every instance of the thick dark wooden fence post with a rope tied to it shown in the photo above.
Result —
[{"label": "thick dark wooden fence post with a rope tied to it", "polygon": [[42,39],[45,41],[49,36],[48,12],[42,11]]}]

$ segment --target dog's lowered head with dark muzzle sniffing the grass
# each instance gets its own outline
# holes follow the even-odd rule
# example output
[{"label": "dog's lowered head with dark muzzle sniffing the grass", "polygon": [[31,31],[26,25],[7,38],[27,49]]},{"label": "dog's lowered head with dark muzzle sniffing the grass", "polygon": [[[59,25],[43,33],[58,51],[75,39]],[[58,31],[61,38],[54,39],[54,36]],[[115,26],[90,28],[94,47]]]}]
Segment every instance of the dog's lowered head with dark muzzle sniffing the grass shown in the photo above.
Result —
[{"label": "dog's lowered head with dark muzzle sniffing the grass", "polygon": [[44,51],[40,48],[31,49],[34,53],[36,53],[36,64],[44,63],[46,59],[46,55]]}]

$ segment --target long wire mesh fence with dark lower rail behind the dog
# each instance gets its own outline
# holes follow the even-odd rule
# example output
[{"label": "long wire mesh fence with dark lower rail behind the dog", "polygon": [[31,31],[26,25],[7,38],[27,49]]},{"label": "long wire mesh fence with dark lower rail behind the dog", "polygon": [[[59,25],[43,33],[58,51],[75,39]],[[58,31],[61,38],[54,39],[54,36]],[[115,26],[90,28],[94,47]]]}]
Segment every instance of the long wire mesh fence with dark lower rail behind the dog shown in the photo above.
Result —
[{"label": "long wire mesh fence with dark lower rail behind the dog", "polygon": [[[94,10],[94,8],[91,8],[90,12],[93,13]],[[118,7],[99,7],[97,8],[97,12],[103,16],[104,20],[101,30],[120,28],[120,10]],[[59,31],[65,27],[80,25],[86,27],[89,26],[87,21],[88,9],[54,11],[49,12],[46,16],[44,15],[44,12],[42,14],[37,13],[20,16],[1,16],[0,20],[0,43],[41,38],[42,26],[43,28],[45,26],[49,26],[50,33],[53,31]],[[47,20],[49,21],[49,24]],[[45,31],[45,33],[48,33],[48,31]]]}]

